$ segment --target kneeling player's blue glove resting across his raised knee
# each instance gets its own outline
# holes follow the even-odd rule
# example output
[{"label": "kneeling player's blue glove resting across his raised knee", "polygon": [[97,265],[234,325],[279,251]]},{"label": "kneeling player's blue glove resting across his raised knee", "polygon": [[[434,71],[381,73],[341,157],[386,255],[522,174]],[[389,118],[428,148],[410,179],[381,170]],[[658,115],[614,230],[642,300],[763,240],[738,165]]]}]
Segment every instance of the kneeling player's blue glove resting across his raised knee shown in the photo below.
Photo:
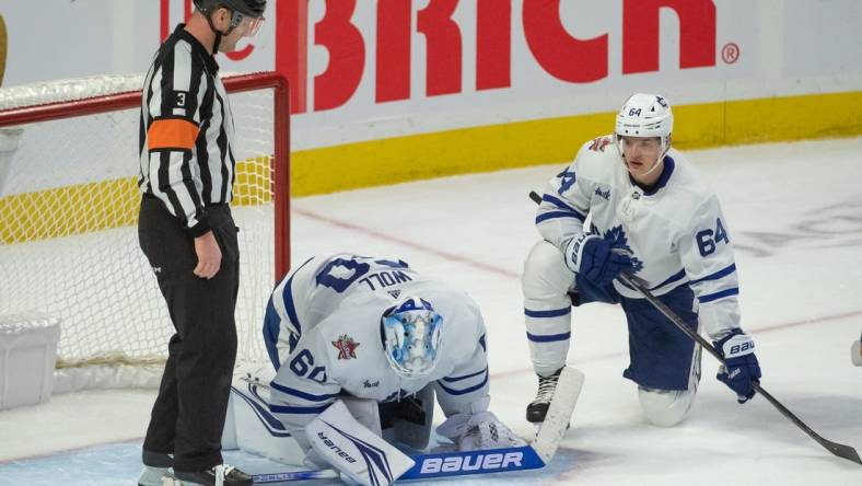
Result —
[{"label": "kneeling player's blue glove resting across his raised knee", "polygon": [[621,246],[596,234],[582,234],[566,247],[566,265],[598,287],[606,287],[624,271],[634,268],[631,257]]}]

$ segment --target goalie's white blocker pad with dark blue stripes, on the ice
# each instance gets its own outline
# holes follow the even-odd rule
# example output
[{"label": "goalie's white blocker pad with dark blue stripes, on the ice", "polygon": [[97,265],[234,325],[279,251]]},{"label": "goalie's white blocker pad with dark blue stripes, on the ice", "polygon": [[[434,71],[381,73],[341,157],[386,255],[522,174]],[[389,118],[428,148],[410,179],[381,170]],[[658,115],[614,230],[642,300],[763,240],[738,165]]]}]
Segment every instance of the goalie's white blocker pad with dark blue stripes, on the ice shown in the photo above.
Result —
[{"label": "goalie's white blocker pad with dark blue stripes, on the ice", "polygon": [[312,448],[336,470],[365,486],[389,485],[413,461],[359,424],[340,400],[305,426]]}]

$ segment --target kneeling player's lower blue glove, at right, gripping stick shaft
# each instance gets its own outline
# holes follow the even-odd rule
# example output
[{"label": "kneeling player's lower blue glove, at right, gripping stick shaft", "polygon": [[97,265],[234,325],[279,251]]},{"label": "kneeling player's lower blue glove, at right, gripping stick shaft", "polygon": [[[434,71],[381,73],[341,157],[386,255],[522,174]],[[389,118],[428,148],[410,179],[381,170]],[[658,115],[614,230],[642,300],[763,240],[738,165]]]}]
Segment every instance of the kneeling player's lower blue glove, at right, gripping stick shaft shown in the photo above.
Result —
[{"label": "kneeling player's lower blue glove, at right, gripping stick shaft", "polygon": [[736,392],[736,401],[745,403],[755,395],[752,382],[760,382],[760,364],[754,354],[752,336],[741,329],[713,343],[715,350],[724,358],[715,378]]}]

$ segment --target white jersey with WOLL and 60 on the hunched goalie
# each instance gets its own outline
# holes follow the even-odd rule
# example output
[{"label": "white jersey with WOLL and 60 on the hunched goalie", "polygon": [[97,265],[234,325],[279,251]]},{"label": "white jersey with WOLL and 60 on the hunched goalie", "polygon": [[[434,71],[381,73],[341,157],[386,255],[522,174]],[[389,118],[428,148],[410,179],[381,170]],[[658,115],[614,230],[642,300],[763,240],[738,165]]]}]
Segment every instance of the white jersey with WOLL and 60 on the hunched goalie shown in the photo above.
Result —
[{"label": "white jersey with WOLL and 60 on the hunched goalie", "polygon": [[[438,363],[419,379],[399,377],[383,347],[381,317],[405,296],[421,297],[442,316]],[[270,410],[294,433],[339,394],[387,402],[433,383],[446,416],[488,396],[485,324],[477,304],[399,259],[349,254],[308,259],[276,287],[264,336],[277,369]]]}]

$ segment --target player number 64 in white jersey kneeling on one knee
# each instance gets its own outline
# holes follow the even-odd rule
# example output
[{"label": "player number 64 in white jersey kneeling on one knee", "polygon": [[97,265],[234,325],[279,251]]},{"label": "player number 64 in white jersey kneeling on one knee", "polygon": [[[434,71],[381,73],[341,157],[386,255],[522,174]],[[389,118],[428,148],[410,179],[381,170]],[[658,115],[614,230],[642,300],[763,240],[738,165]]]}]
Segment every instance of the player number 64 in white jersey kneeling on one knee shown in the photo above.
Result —
[{"label": "player number 64 in white jersey kneeling on one knee", "polygon": [[[674,426],[688,414],[700,379],[700,348],[633,288],[628,273],[722,352],[718,379],[739,403],[760,378],[754,344],[739,327],[738,285],[727,222],[699,173],[671,148],[664,96],[634,94],[610,136],[586,142],[545,188],[536,215],[543,240],[524,265],[524,313],[539,385],[527,420],[540,423],[566,363],[571,308],[620,303],[630,364],[646,419]],[[590,218],[587,220],[587,217]],[[590,222],[589,229],[585,222]],[[576,313],[576,312],[575,312]]]}]

